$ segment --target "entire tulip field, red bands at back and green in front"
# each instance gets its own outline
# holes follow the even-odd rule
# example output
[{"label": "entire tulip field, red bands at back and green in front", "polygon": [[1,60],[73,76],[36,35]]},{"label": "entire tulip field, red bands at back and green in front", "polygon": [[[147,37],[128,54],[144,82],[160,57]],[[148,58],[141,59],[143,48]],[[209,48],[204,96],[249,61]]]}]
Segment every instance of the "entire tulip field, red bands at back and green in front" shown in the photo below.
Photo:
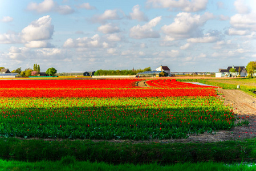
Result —
[{"label": "entire tulip field, red bands at back and green in front", "polygon": [[149,80],[1,80],[0,136],[181,139],[237,119],[215,87]]}]

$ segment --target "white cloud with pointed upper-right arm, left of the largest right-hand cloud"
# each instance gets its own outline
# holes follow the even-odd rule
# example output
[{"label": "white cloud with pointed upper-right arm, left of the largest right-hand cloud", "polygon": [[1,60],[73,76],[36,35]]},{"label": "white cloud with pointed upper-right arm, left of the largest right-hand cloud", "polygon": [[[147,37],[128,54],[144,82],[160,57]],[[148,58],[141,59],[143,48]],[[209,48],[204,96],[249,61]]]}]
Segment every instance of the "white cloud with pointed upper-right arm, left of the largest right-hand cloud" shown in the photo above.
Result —
[{"label": "white cloud with pointed upper-right arm, left of the largest right-hand cloud", "polygon": [[152,27],[156,27],[156,25],[161,21],[161,16],[156,17],[149,21],[148,23],[145,23],[145,25],[140,26],[134,26],[130,28],[129,36],[131,38],[135,39],[145,39],[145,38],[159,38],[159,32],[154,31]]}]

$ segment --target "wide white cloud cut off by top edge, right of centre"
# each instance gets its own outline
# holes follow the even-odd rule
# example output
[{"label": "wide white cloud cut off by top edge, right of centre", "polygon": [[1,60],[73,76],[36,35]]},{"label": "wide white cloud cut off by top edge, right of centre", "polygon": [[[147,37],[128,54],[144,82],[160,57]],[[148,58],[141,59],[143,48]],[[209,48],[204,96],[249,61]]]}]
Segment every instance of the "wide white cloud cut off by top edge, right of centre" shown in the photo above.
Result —
[{"label": "wide white cloud cut off by top edge, right of centre", "polygon": [[148,0],[147,4],[154,8],[177,9],[186,12],[196,12],[206,9],[208,0]]}]

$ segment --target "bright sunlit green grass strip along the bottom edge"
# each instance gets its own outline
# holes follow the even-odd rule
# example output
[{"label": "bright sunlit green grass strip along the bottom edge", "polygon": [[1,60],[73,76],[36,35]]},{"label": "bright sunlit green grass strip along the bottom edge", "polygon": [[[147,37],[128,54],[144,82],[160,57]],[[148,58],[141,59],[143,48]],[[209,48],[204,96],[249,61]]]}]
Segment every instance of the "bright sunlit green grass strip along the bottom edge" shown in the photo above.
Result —
[{"label": "bright sunlit green grass strip along the bottom edge", "polygon": [[63,157],[60,161],[21,162],[0,160],[1,170],[255,170],[254,164],[226,165],[222,162],[198,162],[174,165],[159,165],[157,163],[133,164],[106,164],[104,162],[76,161],[74,157]]}]

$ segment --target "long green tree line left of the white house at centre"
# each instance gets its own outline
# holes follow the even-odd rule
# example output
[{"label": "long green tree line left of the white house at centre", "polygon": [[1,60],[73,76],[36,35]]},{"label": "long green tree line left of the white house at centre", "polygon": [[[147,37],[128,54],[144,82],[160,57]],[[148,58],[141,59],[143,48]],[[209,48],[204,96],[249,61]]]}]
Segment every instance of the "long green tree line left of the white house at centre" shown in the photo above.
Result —
[{"label": "long green tree line left of the white house at centre", "polygon": [[151,67],[138,70],[97,70],[94,75],[136,75],[144,71],[151,71]]}]

